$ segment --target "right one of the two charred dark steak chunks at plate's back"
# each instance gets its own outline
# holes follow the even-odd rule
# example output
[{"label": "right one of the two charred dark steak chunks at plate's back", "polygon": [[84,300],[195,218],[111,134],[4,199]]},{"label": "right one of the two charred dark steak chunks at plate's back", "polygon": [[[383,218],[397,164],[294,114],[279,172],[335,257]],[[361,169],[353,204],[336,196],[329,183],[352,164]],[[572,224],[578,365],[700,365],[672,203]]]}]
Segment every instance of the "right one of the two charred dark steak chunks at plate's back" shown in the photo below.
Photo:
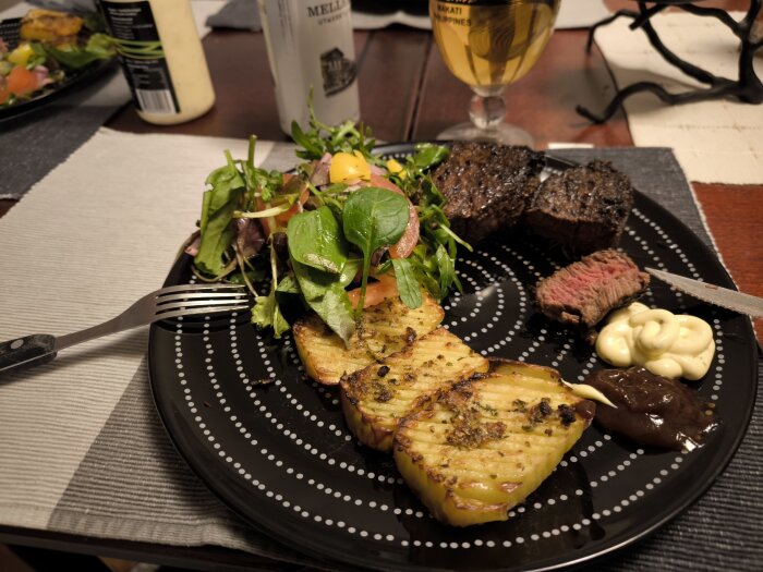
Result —
[{"label": "right one of the two charred dark steak chunks at plate's back", "polygon": [[633,207],[633,187],[606,161],[592,161],[546,179],[524,221],[536,234],[584,255],[616,246]]}]

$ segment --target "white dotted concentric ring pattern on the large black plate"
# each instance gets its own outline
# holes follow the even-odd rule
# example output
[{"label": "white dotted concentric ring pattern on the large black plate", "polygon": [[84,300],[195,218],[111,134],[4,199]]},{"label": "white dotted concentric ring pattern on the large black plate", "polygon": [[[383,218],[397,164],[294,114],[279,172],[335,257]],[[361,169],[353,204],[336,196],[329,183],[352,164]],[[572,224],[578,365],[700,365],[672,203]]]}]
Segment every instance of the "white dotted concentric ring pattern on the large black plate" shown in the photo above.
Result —
[{"label": "white dotted concentric ring pattern on the large black plate", "polygon": [[[649,263],[701,278],[691,253],[639,209],[621,247],[642,267]],[[482,245],[459,260],[464,292],[445,301],[444,326],[485,356],[549,365],[566,379],[583,380],[604,364],[573,332],[533,308],[532,285],[560,264],[540,244],[521,239]],[[687,309],[680,293],[658,284],[643,301]],[[724,332],[716,311],[702,309],[717,353],[711,381],[700,392],[717,401],[725,390]],[[256,496],[259,511],[324,526],[340,535],[338,541],[373,540],[382,550],[405,551],[413,562],[427,555],[427,563],[456,568],[469,568],[469,555],[477,550],[483,560],[494,550],[496,562],[532,561],[538,552],[601,538],[607,521],[649,503],[692,457],[651,454],[593,426],[546,483],[510,511],[508,522],[452,530],[429,516],[391,459],[355,442],[342,419],[338,389],[303,378],[291,337],[274,341],[247,321],[239,314],[174,322],[174,382],[185,414],[199,441]]]}]

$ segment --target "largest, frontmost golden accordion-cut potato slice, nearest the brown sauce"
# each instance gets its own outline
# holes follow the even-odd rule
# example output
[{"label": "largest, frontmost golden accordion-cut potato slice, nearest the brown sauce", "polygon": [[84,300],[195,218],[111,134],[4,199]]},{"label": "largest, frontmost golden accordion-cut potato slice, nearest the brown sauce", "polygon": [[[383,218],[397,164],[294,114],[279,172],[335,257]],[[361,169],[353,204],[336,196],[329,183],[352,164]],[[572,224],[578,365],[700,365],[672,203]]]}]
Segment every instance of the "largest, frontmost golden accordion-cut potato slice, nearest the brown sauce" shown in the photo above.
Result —
[{"label": "largest, frontmost golden accordion-cut potato slice, nearest the brown sauce", "polygon": [[400,474],[438,520],[505,521],[591,424],[595,404],[556,370],[504,363],[438,392],[400,421]]}]

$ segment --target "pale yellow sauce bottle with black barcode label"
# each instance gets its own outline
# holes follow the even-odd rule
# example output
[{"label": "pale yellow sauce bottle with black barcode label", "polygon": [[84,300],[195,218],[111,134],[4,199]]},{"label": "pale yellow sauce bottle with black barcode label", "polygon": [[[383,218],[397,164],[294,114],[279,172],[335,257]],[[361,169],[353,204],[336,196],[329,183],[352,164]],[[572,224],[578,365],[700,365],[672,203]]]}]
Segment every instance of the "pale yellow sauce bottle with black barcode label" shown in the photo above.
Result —
[{"label": "pale yellow sauce bottle with black barcode label", "polygon": [[189,0],[99,5],[141,119],[171,125],[209,111],[215,90]]}]

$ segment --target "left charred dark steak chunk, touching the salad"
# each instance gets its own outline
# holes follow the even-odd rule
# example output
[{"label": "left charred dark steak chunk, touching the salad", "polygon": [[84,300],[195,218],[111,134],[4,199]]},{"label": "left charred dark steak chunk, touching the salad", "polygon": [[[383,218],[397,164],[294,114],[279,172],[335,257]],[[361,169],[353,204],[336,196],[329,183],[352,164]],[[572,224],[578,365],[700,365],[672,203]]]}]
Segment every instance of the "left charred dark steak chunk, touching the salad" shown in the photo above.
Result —
[{"label": "left charred dark steak chunk, touching the salad", "polygon": [[543,155],[529,147],[462,142],[432,179],[448,200],[444,210],[453,231],[477,243],[519,222],[543,166]]}]

